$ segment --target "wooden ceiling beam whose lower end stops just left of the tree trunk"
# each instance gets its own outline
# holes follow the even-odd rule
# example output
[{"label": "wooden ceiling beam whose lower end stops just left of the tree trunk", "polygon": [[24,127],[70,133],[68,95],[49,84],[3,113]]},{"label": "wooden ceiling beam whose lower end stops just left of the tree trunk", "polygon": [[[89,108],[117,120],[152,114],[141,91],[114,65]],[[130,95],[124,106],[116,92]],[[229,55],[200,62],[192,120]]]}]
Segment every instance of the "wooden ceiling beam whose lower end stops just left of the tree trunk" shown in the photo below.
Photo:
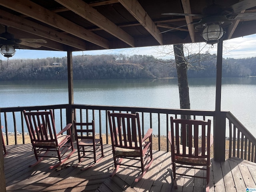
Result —
[{"label": "wooden ceiling beam whose lower end stops just left of the tree trunk", "polygon": [[137,0],[118,0],[142,26],[158,41],[160,45],[163,44],[163,36],[160,34],[160,31],[144,10],[144,8],[140,5]]}]

